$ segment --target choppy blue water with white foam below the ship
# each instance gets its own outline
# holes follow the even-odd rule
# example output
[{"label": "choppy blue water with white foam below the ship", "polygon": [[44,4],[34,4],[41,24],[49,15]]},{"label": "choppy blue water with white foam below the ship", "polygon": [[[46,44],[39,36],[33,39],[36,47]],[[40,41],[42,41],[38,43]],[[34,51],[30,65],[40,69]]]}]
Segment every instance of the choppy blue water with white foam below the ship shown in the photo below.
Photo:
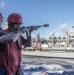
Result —
[{"label": "choppy blue water with white foam below the ship", "polygon": [[74,75],[74,59],[23,57],[24,75]]}]

